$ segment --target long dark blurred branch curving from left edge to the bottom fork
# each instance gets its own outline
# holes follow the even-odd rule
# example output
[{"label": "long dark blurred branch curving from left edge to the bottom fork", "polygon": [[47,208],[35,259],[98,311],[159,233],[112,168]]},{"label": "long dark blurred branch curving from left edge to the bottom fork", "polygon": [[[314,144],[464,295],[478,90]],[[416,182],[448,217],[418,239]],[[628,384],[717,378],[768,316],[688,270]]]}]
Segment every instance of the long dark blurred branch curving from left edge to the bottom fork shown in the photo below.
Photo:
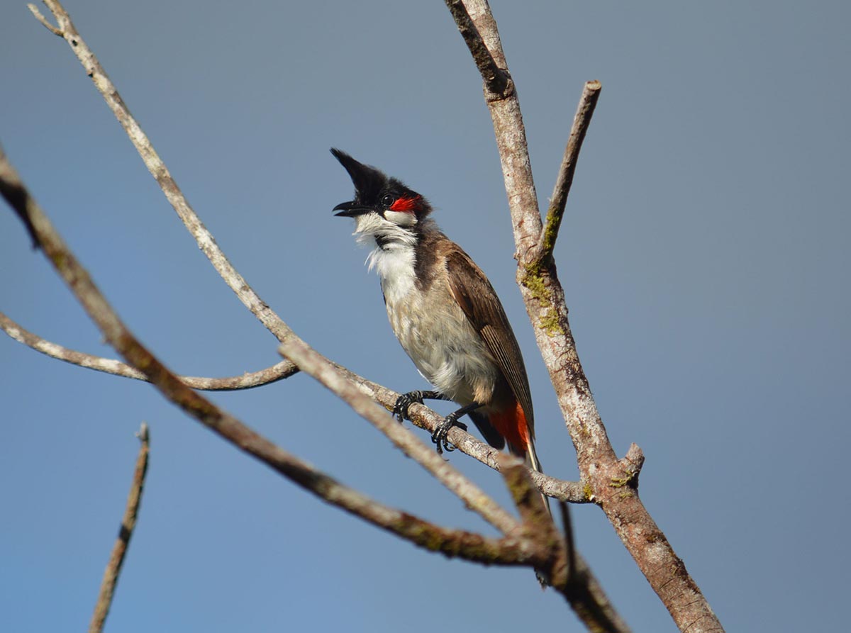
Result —
[{"label": "long dark blurred branch curving from left edge to the bottom fork", "polygon": [[106,341],[127,362],[143,372],[163,396],[210,431],[328,503],[351,512],[376,527],[395,533],[414,545],[440,551],[446,556],[460,556],[473,562],[497,565],[535,566],[540,565],[549,556],[541,550],[540,545],[523,539],[522,536],[512,534],[502,539],[489,539],[476,533],[439,527],[407,512],[382,505],[277,447],[230,413],[192,391],[135,339],[112,310],[89,277],[89,273],[66,247],[53,224],[30,197],[0,148],[0,191],[7,191],[7,187],[23,193],[23,197],[7,197],[7,202],[10,206],[20,204],[20,207],[14,208],[14,212],[29,217],[43,253],[83,305],[83,309],[100,329]]}]

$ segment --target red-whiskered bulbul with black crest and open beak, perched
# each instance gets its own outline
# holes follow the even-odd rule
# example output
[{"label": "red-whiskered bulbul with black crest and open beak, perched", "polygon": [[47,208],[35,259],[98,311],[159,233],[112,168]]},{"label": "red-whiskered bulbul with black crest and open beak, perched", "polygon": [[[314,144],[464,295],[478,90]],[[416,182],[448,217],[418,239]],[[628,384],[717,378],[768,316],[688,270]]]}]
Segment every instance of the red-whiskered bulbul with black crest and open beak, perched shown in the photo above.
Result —
[{"label": "red-whiskered bulbul with black crest and open beak, perched", "polygon": [[437,391],[400,396],[401,422],[413,402],[452,400],[451,413],[431,436],[437,452],[454,450],[453,426],[470,416],[485,440],[540,471],[526,368],[500,299],[482,270],[431,220],[425,197],[344,151],[331,153],[355,185],[355,199],[334,211],[356,222],[358,242],[374,246],[368,266],[378,271],[390,324],[420,374]]}]

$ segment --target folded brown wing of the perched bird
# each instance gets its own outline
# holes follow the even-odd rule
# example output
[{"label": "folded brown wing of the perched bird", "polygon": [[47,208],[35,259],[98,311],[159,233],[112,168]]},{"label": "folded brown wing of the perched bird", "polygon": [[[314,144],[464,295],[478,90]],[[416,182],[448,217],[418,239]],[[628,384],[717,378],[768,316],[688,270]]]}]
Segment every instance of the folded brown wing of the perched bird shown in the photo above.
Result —
[{"label": "folded brown wing of the perched bird", "polygon": [[494,355],[517,402],[523,408],[529,433],[534,438],[532,395],[529,393],[526,366],[500,298],[496,296],[488,277],[460,247],[456,246],[447,254],[446,268],[449,291],[473,328],[482,335],[488,351]]}]

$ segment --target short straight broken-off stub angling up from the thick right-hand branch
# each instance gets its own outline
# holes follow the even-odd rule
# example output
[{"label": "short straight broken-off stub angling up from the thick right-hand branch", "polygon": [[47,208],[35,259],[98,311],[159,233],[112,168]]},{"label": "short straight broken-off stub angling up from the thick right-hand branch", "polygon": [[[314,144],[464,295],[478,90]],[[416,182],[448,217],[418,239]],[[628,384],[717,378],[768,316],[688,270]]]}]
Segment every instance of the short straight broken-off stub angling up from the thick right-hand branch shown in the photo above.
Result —
[{"label": "short straight broken-off stub angling up from the thick right-hand branch", "polygon": [[564,207],[568,202],[570,185],[573,185],[574,182],[576,162],[580,157],[582,141],[585,140],[585,133],[588,131],[588,126],[591,125],[591,117],[594,115],[594,108],[597,107],[597,100],[600,98],[600,90],[602,88],[603,85],[600,82],[592,81],[586,82],[585,88],[582,90],[580,105],[576,108],[574,124],[570,128],[568,145],[564,148],[562,164],[558,168],[556,185],[550,198],[550,208],[546,211],[546,225],[540,235],[540,246],[538,252],[531,255],[533,261],[535,259],[541,261],[550,258],[552,256],[552,249],[556,247],[558,228],[562,225]]}]

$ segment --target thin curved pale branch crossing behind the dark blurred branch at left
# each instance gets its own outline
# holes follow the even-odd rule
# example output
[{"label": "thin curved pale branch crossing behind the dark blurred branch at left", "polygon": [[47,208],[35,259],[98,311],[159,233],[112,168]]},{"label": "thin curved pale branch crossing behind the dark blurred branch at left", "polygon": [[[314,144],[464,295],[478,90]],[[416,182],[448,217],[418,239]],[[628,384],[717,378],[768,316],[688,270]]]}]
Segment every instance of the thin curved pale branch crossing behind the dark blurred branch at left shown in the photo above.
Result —
[{"label": "thin curved pale branch crossing behind the dark blurred branch at left", "polygon": [[[23,343],[31,347],[35,351],[40,351],[46,356],[55,358],[63,362],[70,362],[72,365],[79,365],[87,369],[104,372],[105,374],[113,374],[122,376],[123,378],[132,378],[135,380],[148,381],[145,374],[142,374],[138,369],[130,367],[128,364],[117,361],[113,358],[103,358],[101,356],[92,356],[85,354],[82,351],[69,350],[67,347],[51,343],[37,334],[32,334],[26,329],[7,317],[3,312],[0,312],[0,329],[19,343]],[[201,391],[237,391],[241,389],[253,389],[262,385],[270,385],[278,380],[289,378],[299,369],[292,362],[283,361],[277,362],[271,367],[260,369],[256,372],[246,372],[240,376],[229,376],[227,378],[202,378],[198,376],[178,376],[184,384],[192,389]]]}]

